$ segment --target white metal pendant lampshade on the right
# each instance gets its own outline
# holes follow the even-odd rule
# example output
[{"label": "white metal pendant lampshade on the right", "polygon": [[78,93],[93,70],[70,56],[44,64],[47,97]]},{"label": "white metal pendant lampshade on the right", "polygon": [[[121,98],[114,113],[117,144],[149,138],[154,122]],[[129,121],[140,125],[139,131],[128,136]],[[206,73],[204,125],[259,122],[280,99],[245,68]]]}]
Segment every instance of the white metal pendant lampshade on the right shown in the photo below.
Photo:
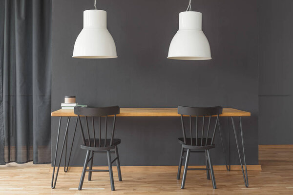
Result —
[{"label": "white metal pendant lampshade on the right", "polygon": [[179,13],[179,30],[173,37],[168,59],[211,59],[209,41],[202,31],[202,13],[186,11]]}]

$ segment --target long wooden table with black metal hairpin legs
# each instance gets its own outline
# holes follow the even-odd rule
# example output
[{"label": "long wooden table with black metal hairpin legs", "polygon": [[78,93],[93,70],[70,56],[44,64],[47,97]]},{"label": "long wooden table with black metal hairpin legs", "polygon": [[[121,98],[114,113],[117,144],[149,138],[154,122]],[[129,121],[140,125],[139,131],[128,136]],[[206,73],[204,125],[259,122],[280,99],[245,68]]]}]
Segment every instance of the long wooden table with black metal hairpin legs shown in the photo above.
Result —
[{"label": "long wooden table with black metal hairpin legs", "polygon": [[[75,137],[75,133],[76,133],[78,117],[77,117],[77,115],[74,114],[73,109],[72,110],[60,109],[60,110],[52,112],[51,116],[52,117],[60,117],[59,126],[58,126],[57,142],[56,142],[56,152],[55,152],[55,158],[54,158],[53,175],[52,175],[52,182],[51,182],[51,188],[54,189],[55,186],[56,186],[56,181],[57,181],[57,177],[58,177],[58,173],[59,173],[60,163],[61,163],[61,159],[62,159],[62,156],[63,156],[64,146],[65,146],[64,172],[68,171],[68,166],[69,166],[69,162],[70,162],[72,146],[73,146],[74,137]],[[180,116],[181,115],[179,115],[177,113],[177,108],[120,108],[120,114],[117,115],[117,117],[180,117]],[[237,109],[234,109],[234,108],[223,108],[222,114],[219,115],[219,117],[227,117],[227,119],[229,119],[229,117],[231,118],[233,130],[234,130],[234,135],[235,135],[235,140],[236,140],[237,151],[238,151],[239,160],[240,160],[240,165],[241,165],[242,174],[243,174],[243,178],[244,178],[244,183],[245,183],[246,187],[248,187],[249,184],[248,184],[247,166],[246,166],[246,160],[245,160],[244,140],[243,140],[241,117],[250,117],[250,116],[251,116],[250,112],[237,110]],[[63,138],[63,145],[62,145],[62,149],[61,149],[61,154],[60,154],[60,158],[59,158],[59,164],[58,164],[58,168],[57,168],[57,172],[56,172],[56,176],[55,176],[55,182],[54,182],[54,174],[55,174],[55,167],[56,167],[56,159],[57,159],[57,151],[58,151],[58,143],[59,143],[60,127],[61,127],[61,119],[62,119],[62,117],[67,117],[67,125],[66,125],[64,138]],[[72,143],[71,143],[71,149],[70,149],[69,159],[68,159],[67,168],[66,168],[67,135],[68,135],[68,126],[69,126],[69,122],[70,122],[71,117],[76,117],[76,123],[75,123],[74,135],[73,135],[73,139],[72,139]],[[240,133],[241,133],[241,141],[242,141],[242,150],[243,150],[243,159],[244,159],[245,170],[243,169],[243,166],[242,166],[240,149],[239,149],[239,144],[238,144],[236,128],[235,128],[233,117],[239,117]],[[218,123],[218,127],[219,127],[220,138],[221,138],[222,148],[223,148],[224,157],[225,157],[226,168],[227,168],[227,171],[230,171],[230,138],[228,138],[228,160],[229,160],[229,163],[227,163],[227,157],[226,157],[226,152],[225,152],[224,145],[223,145],[223,139],[222,139],[220,123]],[[228,132],[229,132],[229,123],[228,123]],[[229,135],[230,134],[228,133],[228,136]],[[228,166],[229,166],[229,168],[228,168]]]}]

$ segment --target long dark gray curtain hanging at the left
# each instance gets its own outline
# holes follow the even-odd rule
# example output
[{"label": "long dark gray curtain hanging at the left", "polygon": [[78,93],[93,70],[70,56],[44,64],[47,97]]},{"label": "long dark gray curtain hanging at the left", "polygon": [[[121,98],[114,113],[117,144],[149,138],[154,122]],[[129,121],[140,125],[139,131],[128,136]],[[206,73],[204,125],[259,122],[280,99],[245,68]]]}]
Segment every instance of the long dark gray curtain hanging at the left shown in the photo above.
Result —
[{"label": "long dark gray curtain hanging at the left", "polygon": [[0,164],[51,161],[51,0],[0,0]]}]

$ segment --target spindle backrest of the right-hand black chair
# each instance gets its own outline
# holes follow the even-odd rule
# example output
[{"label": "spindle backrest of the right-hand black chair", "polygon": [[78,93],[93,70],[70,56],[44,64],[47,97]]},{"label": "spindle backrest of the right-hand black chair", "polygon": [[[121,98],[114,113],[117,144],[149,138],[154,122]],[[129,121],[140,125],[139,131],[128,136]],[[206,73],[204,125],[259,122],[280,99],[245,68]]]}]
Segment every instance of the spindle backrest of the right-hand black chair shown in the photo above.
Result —
[{"label": "spindle backrest of the right-hand black chair", "polygon": [[[182,124],[182,133],[183,133],[183,140],[184,144],[187,144],[187,136],[185,132],[185,125],[184,125],[184,116],[189,117],[189,130],[190,130],[190,144],[191,145],[196,145],[196,146],[208,146],[212,145],[215,137],[215,132],[216,132],[216,127],[218,124],[219,120],[219,115],[222,114],[223,107],[222,106],[215,106],[215,107],[187,107],[187,106],[178,106],[178,114],[181,115],[181,124]],[[214,126],[211,125],[211,117],[216,116],[216,120],[214,123]],[[192,117],[196,117],[196,132],[195,132],[195,137],[193,137],[192,134]],[[202,117],[202,129],[201,129],[201,137],[198,137],[198,123],[199,123],[199,117]],[[209,117],[209,122],[208,122],[208,128],[205,128],[205,122],[206,122],[206,117]],[[209,138],[210,132],[209,129],[210,127],[213,126],[213,133],[211,134],[211,138]],[[205,129],[207,129],[207,134],[206,137],[205,135]],[[195,143],[194,139],[195,138]],[[208,141],[210,140],[210,142]]]}]

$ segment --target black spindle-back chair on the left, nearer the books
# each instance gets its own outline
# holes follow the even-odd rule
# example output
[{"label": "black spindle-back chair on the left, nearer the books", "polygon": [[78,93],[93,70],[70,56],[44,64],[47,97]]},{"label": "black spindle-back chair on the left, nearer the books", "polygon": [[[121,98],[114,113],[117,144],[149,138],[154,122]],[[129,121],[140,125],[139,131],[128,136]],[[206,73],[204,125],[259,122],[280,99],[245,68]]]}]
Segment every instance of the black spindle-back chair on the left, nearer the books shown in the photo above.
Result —
[{"label": "black spindle-back chair on the left, nearer the books", "polygon": [[[116,115],[120,113],[119,106],[111,106],[111,107],[104,107],[104,108],[85,108],[85,107],[74,107],[74,114],[78,115],[81,132],[82,132],[82,138],[83,138],[83,145],[81,145],[81,148],[86,150],[86,157],[84,160],[84,168],[80,180],[80,184],[78,189],[81,190],[83,188],[84,183],[84,176],[85,172],[88,173],[88,180],[91,180],[92,172],[109,172],[110,175],[110,182],[111,182],[111,190],[114,191],[114,180],[113,180],[113,171],[112,171],[112,163],[116,161],[117,164],[117,170],[118,170],[118,178],[119,181],[122,181],[121,176],[121,170],[120,170],[120,162],[119,162],[119,155],[118,155],[118,148],[117,145],[120,144],[121,140],[114,138],[114,132],[115,132],[115,121],[116,121]],[[107,122],[108,122],[108,116],[114,116],[113,119],[113,127],[112,127],[112,134],[111,138],[107,138]],[[87,136],[88,138],[84,138],[84,131],[81,123],[81,117],[85,118],[85,124],[87,129]],[[91,117],[92,120],[92,128],[93,128],[93,138],[91,138],[88,128],[88,117]],[[96,138],[95,133],[95,125],[94,125],[94,117],[99,118],[99,138]],[[105,117],[105,138],[102,138],[102,132],[101,132],[101,117]],[[114,151],[111,151],[114,150]],[[93,160],[94,160],[94,154],[107,154],[107,160],[108,160],[108,167],[109,170],[93,170]],[[116,157],[111,160],[111,153],[115,153]],[[87,164],[89,163],[89,169],[86,169]]]}]

